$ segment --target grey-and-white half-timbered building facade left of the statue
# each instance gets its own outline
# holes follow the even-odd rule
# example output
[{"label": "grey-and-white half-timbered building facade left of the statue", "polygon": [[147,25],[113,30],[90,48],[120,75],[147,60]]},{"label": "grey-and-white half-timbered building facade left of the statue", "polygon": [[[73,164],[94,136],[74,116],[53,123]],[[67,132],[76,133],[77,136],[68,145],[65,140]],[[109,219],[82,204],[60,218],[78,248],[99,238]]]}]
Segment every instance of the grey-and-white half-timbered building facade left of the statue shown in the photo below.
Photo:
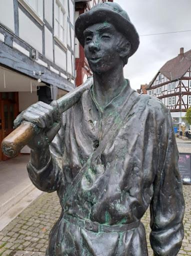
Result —
[{"label": "grey-and-white half-timbered building facade left of the statue", "polygon": [[73,0],[0,1],[0,143],[19,112],[74,88],[74,10]]}]

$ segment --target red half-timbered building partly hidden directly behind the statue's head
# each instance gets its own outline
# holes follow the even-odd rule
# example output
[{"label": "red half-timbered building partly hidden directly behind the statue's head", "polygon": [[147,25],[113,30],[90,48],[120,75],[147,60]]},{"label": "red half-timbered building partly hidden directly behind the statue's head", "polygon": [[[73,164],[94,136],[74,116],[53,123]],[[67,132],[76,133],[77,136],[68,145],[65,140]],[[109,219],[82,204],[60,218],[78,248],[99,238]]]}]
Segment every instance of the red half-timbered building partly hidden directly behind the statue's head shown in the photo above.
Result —
[{"label": "red half-timbered building partly hidden directly behind the statue's head", "polygon": [[[80,14],[83,14],[84,12],[90,10],[96,4],[104,2],[113,2],[113,0],[75,0],[75,21]],[[82,84],[88,76],[92,75],[92,72],[84,55],[83,47],[79,44],[77,39],[75,39],[75,72],[76,86]]]}]

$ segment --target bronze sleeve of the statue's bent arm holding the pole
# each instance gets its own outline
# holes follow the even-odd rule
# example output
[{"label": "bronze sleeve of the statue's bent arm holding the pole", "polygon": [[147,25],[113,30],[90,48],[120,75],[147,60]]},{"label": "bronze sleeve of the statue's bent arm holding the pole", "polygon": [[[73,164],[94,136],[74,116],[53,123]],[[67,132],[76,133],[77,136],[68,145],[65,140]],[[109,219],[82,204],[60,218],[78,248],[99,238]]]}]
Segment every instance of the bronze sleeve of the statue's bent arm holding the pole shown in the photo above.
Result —
[{"label": "bronze sleeve of the statue's bent arm holding the pole", "polygon": [[59,188],[62,178],[62,155],[65,134],[65,114],[62,115],[62,125],[49,146],[47,164],[37,170],[29,161],[27,171],[30,180],[39,190],[53,192]]}]

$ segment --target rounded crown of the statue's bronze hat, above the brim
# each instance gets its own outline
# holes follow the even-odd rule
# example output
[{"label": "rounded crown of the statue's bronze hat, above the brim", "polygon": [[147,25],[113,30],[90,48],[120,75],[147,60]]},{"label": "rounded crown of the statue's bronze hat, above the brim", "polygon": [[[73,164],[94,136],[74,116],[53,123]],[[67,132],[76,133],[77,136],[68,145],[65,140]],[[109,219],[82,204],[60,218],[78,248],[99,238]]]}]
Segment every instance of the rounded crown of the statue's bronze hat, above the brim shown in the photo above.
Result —
[{"label": "rounded crown of the statue's bronze hat, above the brim", "polygon": [[101,4],[97,4],[91,8],[91,10],[98,9],[98,8],[109,8],[112,11],[116,12],[117,14],[120,14],[124,19],[128,20],[130,22],[130,19],[127,15],[127,13],[116,3],[113,2],[104,2]]}]

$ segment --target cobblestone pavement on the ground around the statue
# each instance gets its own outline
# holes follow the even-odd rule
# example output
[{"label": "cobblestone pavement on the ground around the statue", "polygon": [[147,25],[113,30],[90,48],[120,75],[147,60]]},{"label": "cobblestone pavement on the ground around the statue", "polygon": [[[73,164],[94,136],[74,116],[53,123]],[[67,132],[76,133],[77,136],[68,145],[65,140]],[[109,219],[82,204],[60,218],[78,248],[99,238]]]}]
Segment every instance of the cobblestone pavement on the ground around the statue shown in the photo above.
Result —
[{"label": "cobblestone pavement on the ground around the statue", "polygon": [[[185,197],[184,230],[185,236],[178,255],[191,255],[191,186],[184,185]],[[45,254],[51,226],[59,217],[60,205],[56,193],[44,193],[29,205],[21,214],[0,232],[0,256],[42,256]],[[148,252],[149,211],[142,218],[146,228]],[[169,255],[171,256],[171,255]]]}]

